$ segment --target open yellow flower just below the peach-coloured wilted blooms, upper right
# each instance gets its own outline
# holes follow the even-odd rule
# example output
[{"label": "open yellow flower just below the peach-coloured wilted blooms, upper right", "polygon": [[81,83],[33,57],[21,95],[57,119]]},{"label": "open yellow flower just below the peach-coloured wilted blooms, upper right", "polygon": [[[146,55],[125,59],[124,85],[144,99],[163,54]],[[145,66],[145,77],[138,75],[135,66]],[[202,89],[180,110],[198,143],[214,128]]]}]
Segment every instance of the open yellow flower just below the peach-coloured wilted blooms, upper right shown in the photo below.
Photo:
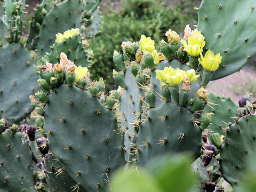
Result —
[{"label": "open yellow flower just below the peach-coloured wilted blooms, upper right", "polygon": [[182,40],[181,43],[184,46],[184,51],[192,57],[198,57],[203,51],[203,47],[205,45],[205,41],[202,42],[200,39],[196,39],[191,36],[188,37],[188,43],[185,40]]}]

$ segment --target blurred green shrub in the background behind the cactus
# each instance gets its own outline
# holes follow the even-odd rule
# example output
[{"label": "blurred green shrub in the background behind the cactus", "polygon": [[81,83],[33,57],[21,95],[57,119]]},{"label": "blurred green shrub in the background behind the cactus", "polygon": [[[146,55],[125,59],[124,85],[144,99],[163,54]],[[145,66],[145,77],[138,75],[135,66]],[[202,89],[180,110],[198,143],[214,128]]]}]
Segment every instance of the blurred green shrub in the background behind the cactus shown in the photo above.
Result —
[{"label": "blurred green shrub in the background behind the cactus", "polygon": [[[105,78],[106,84],[109,85],[106,87],[107,90],[114,87],[113,52],[121,51],[123,41],[139,41],[140,35],[144,34],[152,37],[156,42],[156,48],[159,49],[159,43],[165,38],[168,29],[183,31],[188,23],[194,25],[197,19],[197,12],[191,9],[193,6],[182,1],[173,8],[166,2],[154,0],[125,0],[121,5],[123,7],[118,12],[103,15],[102,32],[90,41],[90,47],[94,52],[91,77]],[[190,9],[186,10],[188,7]]]}]

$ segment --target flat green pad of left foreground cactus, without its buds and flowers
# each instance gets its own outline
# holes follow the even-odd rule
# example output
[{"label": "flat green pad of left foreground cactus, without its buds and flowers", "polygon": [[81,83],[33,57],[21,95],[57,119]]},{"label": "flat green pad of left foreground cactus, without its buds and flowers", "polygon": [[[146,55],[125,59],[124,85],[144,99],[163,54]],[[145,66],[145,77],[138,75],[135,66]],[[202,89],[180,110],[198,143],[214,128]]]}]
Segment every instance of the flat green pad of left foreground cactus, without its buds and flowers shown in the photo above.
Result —
[{"label": "flat green pad of left foreground cactus, without its buds and flowers", "polygon": [[75,186],[86,191],[105,191],[105,173],[109,176],[125,163],[123,140],[113,112],[97,97],[66,84],[47,98],[43,129],[51,132],[47,134],[47,145],[55,159],[76,181]]}]

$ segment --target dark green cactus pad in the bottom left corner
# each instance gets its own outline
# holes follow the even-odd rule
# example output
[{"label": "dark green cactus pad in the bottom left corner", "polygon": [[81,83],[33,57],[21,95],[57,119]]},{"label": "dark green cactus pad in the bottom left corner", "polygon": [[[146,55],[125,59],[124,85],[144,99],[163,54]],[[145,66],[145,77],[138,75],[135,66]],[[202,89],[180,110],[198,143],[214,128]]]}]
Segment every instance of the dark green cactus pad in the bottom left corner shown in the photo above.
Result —
[{"label": "dark green cactus pad in the bottom left corner", "polygon": [[34,191],[33,164],[28,143],[22,133],[6,130],[0,134],[0,190]]}]

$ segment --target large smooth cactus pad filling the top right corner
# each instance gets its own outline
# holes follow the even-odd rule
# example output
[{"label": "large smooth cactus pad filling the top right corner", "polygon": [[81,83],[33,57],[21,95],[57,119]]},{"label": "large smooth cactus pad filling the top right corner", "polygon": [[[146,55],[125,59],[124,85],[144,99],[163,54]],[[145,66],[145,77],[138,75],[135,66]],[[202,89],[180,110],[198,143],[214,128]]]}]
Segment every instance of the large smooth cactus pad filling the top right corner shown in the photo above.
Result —
[{"label": "large smooth cactus pad filling the top right corner", "polygon": [[255,57],[255,6],[254,0],[202,1],[197,27],[205,36],[205,47],[222,55],[212,80],[235,73]]}]

